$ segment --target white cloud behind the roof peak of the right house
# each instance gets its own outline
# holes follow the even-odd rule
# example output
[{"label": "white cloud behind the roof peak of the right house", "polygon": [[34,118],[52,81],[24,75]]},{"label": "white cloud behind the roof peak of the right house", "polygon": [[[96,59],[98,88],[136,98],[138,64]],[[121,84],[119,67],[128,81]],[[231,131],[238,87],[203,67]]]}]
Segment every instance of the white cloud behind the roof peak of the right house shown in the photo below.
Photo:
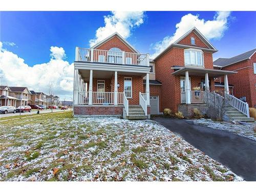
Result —
[{"label": "white cloud behind the roof peak of the right house", "polygon": [[172,36],[166,36],[161,41],[151,45],[152,49],[155,51],[151,57],[155,58],[166,47],[193,27],[196,27],[208,40],[221,38],[228,28],[229,16],[230,12],[228,11],[216,12],[212,20],[200,19],[199,15],[190,13],[182,16],[180,23],[176,24],[176,31]]}]

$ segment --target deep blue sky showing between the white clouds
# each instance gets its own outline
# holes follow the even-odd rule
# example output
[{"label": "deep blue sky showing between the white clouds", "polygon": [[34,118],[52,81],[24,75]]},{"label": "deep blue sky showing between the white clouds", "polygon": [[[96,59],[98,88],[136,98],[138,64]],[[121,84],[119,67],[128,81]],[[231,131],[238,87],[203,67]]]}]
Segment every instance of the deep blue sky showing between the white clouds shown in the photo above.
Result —
[{"label": "deep blue sky showing between the white clouds", "polygon": [[[153,54],[154,44],[173,35],[181,17],[191,13],[211,20],[215,12],[145,12],[144,22],[131,30],[127,40],[140,52]],[[3,47],[25,59],[29,66],[49,61],[50,47],[62,47],[70,63],[75,47],[90,47],[103,16],[110,12],[1,12],[2,42],[16,46]],[[231,12],[228,28],[221,38],[210,39],[219,50],[214,58],[231,57],[256,47],[256,12]],[[153,45],[152,45],[153,44]]]}]

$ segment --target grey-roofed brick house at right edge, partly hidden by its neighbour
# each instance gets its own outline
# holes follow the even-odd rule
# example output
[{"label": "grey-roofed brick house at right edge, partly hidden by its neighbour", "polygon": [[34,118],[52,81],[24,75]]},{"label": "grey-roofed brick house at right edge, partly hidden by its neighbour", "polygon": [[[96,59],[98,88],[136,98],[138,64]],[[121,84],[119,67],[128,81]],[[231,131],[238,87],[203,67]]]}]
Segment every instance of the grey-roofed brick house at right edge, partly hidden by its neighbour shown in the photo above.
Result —
[{"label": "grey-roofed brick house at right edge, partly hidden by its neighbour", "polygon": [[[232,94],[256,108],[256,49],[231,58],[218,58],[214,61],[214,68],[236,71],[229,76]],[[217,80],[223,83],[223,78]]]}]

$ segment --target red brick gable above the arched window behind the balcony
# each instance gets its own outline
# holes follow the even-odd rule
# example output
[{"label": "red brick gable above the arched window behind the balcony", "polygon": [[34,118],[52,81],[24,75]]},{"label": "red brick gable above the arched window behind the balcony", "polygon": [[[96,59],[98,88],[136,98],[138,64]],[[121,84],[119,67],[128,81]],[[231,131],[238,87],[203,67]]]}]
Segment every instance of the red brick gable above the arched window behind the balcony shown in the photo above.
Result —
[{"label": "red brick gable above the arched window behind the balcony", "polygon": [[110,50],[111,48],[114,48],[114,47],[119,48],[119,49],[121,49],[122,51],[125,51],[125,52],[134,53],[134,51],[132,51],[129,47],[127,47],[117,36],[114,36],[113,38],[106,41],[104,44],[97,47],[96,49]]}]

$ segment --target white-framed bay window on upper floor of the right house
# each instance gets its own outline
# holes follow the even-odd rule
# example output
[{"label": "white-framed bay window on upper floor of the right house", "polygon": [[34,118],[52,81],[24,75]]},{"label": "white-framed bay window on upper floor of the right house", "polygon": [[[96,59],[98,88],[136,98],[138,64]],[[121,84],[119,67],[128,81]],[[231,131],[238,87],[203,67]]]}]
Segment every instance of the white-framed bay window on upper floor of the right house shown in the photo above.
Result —
[{"label": "white-framed bay window on upper floor of the right house", "polygon": [[184,51],[185,65],[203,66],[203,53],[201,51]]}]

